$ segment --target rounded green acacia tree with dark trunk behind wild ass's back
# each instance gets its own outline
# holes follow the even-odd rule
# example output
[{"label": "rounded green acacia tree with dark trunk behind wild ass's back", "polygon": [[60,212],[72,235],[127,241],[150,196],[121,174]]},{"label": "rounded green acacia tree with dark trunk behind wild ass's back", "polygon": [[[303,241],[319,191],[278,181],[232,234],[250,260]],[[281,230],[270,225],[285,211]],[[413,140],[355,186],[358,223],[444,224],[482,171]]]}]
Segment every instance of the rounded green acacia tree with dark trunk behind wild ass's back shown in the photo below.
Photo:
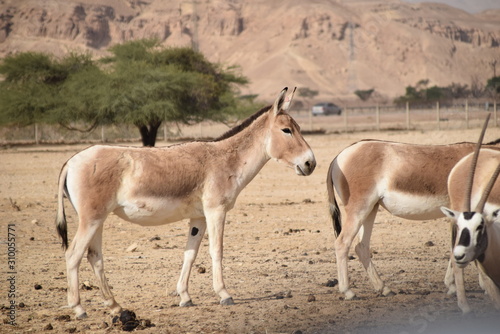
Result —
[{"label": "rounded green acacia tree with dark trunk behind wild ass's back", "polygon": [[143,145],[154,146],[162,122],[191,124],[221,121],[245,113],[235,84],[246,78],[190,48],[160,48],[156,40],[138,40],[110,49],[111,110],[119,122],[139,129]]}]

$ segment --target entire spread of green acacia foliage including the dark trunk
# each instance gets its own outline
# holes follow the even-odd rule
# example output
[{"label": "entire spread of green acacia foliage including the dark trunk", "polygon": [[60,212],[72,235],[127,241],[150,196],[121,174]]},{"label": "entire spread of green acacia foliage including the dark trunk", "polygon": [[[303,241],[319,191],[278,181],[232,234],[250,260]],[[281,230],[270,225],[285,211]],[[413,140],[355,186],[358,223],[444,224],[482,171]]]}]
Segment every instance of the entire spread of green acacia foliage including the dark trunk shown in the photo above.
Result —
[{"label": "entire spread of green acacia foliage including the dark trunk", "polygon": [[145,146],[154,146],[162,122],[228,121],[256,109],[239,98],[248,80],[237,68],[222,68],[190,48],[162,48],[157,40],[113,46],[99,61],[88,54],[57,60],[20,53],[0,64],[0,124],[58,123],[137,126]]}]

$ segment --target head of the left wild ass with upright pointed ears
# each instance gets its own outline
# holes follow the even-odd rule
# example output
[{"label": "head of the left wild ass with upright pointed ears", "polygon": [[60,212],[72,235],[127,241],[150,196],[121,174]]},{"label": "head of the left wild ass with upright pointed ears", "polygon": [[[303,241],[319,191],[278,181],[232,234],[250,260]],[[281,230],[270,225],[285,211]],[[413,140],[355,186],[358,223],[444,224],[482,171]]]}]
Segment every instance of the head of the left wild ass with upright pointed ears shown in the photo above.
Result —
[{"label": "head of the left wild ass with upright pointed ears", "polygon": [[295,89],[286,96],[284,88],[269,111],[267,155],[295,169],[298,175],[309,175],[316,167],[314,154],[300,133],[300,127],[288,114]]}]

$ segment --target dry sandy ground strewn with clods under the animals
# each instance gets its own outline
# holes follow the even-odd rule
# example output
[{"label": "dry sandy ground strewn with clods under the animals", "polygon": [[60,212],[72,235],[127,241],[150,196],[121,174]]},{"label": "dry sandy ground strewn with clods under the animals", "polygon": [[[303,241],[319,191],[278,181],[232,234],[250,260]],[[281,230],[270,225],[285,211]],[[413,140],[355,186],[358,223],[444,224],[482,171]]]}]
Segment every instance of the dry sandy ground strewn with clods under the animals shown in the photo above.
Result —
[{"label": "dry sandy ground strewn with clods under the animals", "polygon": [[[478,131],[306,136],[318,160],[309,177],[298,177],[270,161],[228,215],[224,273],[234,306],[219,305],[212,290],[206,239],[190,281],[195,306],[180,308],[178,297],[170,294],[182,263],[185,221],[142,228],[110,216],[104,230],[105,270],[117,301],[155,324],[140,333],[497,333],[498,313],[480,290],[474,268],[466,271],[473,316],[463,318],[455,297],[445,293],[449,227],[444,219],[413,222],[380,211],[371,248],[395,296],[378,296],[357,259],[350,261],[349,269],[360,299],[344,301],[337,287],[326,286],[337,278],[325,188],[333,157],[363,138],[441,144],[475,141]],[[485,140],[499,135],[498,128],[491,128]],[[71,310],[61,309],[66,304],[66,272],[54,227],[57,177],[62,164],[82,148],[33,146],[0,151],[0,261],[6,268],[8,225],[13,224],[18,306],[17,326],[2,323],[2,333],[49,332],[47,327],[52,332],[121,332],[118,327],[106,328],[111,316],[102,305],[86,259],[80,280],[88,281],[81,296],[89,318],[73,320]],[[67,211],[72,237],[76,216],[72,209]],[[137,249],[126,252],[133,243]],[[352,255],[356,257],[353,250]],[[10,276],[4,269],[0,275],[1,317],[7,320]]]}]

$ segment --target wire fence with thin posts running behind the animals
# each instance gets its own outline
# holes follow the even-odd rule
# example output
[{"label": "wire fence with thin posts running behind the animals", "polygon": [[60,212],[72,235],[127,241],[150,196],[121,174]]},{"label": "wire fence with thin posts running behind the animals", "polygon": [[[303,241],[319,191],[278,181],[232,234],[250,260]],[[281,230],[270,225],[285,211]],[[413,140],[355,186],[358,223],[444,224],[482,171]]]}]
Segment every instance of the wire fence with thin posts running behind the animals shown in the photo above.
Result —
[{"label": "wire fence with thin posts running behind the animals", "polygon": [[[345,107],[341,115],[329,116],[313,116],[310,110],[291,112],[305,133],[479,128],[488,113],[492,114],[490,127],[498,127],[496,103],[465,102],[453,106],[437,103],[434,107],[425,108],[408,104],[403,107]],[[208,121],[191,126],[166,123],[159,131],[157,140],[170,142],[215,138],[228,129],[227,125]],[[101,126],[91,132],[70,131],[47,124],[0,128],[2,146],[101,142],[140,142],[140,135],[135,126],[127,124]]]}]

